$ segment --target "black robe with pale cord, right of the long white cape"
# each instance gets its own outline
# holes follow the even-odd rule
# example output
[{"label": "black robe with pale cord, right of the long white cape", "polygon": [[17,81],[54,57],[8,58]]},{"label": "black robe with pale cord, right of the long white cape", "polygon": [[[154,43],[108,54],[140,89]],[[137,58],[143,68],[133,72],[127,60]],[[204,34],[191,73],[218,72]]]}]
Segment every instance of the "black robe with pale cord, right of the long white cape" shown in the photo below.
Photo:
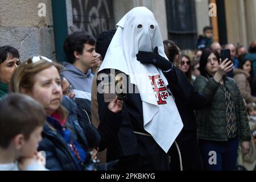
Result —
[{"label": "black robe with pale cord, right of the long white cape", "polygon": [[[184,171],[203,170],[199,144],[197,141],[197,127],[194,110],[203,109],[206,105],[205,97],[195,91],[187,77],[175,68],[177,82],[169,80],[170,90],[175,98],[177,109],[183,122],[183,129],[176,138],[181,152]],[[166,76],[167,80],[170,76]],[[179,155],[173,144],[168,151],[171,156],[171,170],[180,170]]]}]

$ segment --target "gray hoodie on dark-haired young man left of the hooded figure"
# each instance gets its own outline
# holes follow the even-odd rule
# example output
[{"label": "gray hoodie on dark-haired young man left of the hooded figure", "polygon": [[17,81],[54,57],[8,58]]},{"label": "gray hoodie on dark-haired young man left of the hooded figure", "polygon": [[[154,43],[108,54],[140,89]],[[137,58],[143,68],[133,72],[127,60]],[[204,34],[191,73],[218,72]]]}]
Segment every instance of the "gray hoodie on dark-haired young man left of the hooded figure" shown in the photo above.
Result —
[{"label": "gray hoodie on dark-haired young man left of the hooded figure", "polygon": [[[65,77],[73,89],[81,92],[91,93],[92,92],[92,71],[89,69],[87,73],[82,73],[73,64],[64,62],[64,69],[61,71],[61,76]],[[76,92],[75,92],[76,93]]]}]

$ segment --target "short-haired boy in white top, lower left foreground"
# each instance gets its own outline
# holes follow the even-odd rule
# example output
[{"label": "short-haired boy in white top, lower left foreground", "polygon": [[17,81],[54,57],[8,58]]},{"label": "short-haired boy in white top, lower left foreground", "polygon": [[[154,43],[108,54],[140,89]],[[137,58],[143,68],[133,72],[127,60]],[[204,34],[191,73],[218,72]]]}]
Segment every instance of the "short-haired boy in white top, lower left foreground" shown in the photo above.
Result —
[{"label": "short-haired boy in white top, lower left foreground", "polygon": [[38,163],[46,113],[31,97],[11,93],[0,101],[0,171],[46,171]]}]

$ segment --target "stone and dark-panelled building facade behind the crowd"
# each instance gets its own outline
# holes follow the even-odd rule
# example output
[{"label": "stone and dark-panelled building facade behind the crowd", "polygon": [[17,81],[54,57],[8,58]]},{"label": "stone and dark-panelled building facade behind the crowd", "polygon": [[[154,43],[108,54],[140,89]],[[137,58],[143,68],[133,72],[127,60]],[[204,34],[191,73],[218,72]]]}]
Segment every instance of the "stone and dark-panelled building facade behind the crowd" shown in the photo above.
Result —
[{"label": "stone and dark-panelled building facade behind the crowd", "polygon": [[[39,16],[42,4],[46,12]],[[174,40],[181,49],[195,49],[209,25],[221,44],[247,47],[256,39],[256,0],[0,0],[0,46],[17,48],[21,60],[44,55],[61,62],[68,34],[85,30],[97,36],[137,6],[150,9],[162,39]],[[214,8],[217,16],[209,14]]]}]

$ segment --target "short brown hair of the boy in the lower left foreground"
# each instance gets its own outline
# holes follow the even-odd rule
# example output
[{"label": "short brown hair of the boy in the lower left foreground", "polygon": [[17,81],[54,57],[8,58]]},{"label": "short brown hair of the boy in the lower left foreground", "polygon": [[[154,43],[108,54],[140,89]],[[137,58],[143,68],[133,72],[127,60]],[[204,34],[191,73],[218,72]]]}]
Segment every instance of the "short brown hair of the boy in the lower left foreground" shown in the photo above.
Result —
[{"label": "short brown hair of the boy in the lower left foreground", "polygon": [[18,134],[28,140],[45,121],[43,106],[31,97],[19,93],[3,97],[0,101],[0,147],[9,147],[11,139]]}]

